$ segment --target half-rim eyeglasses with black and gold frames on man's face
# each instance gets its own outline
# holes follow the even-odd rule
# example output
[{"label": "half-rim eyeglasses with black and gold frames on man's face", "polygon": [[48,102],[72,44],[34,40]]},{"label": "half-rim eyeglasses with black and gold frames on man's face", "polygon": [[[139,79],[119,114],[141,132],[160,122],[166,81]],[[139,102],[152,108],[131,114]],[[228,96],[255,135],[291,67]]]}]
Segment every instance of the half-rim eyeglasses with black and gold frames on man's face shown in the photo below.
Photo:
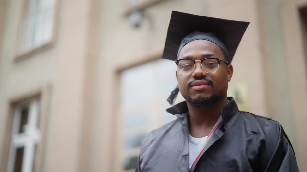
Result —
[{"label": "half-rim eyeglasses with black and gold frames on man's face", "polygon": [[201,68],[206,73],[215,73],[219,69],[221,61],[227,63],[228,65],[228,62],[221,58],[204,58],[202,60],[193,60],[185,58],[185,59],[175,60],[179,72],[183,74],[189,74],[193,72],[193,70],[195,69],[196,62],[201,63]]}]

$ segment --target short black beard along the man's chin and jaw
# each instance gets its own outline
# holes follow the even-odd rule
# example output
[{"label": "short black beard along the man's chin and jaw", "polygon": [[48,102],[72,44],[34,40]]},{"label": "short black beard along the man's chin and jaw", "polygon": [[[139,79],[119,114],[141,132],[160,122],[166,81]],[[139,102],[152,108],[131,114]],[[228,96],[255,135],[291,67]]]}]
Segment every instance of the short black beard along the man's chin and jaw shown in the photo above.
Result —
[{"label": "short black beard along the man's chin and jaw", "polygon": [[185,99],[192,106],[204,107],[204,106],[209,106],[209,105],[216,103],[221,98],[222,98],[221,93],[219,93],[219,94],[213,93],[212,95],[210,95],[208,97],[201,97],[201,98],[198,98],[198,99],[192,99],[190,96],[187,96]]}]

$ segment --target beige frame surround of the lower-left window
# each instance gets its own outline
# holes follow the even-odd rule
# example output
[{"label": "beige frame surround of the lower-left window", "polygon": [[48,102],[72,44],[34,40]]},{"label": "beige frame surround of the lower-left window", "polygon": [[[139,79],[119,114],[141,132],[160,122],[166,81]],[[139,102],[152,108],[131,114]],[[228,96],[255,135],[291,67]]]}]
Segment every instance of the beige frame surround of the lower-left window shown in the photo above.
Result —
[{"label": "beige frame surround of the lower-left window", "polygon": [[5,113],[3,114],[3,128],[2,136],[3,139],[0,140],[0,149],[1,155],[0,159],[3,161],[0,162],[0,170],[8,171],[8,157],[10,150],[10,143],[12,141],[12,129],[14,122],[14,113],[18,103],[26,102],[27,100],[38,98],[40,99],[40,116],[38,121],[38,128],[41,133],[40,142],[36,145],[35,155],[34,155],[34,166],[33,172],[39,172],[44,170],[45,162],[45,145],[46,145],[46,136],[48,128],[48,118],[49,118],[49,107],[50,107],[50,93],[52,86],[51,84],[45,84],[41,87],[26,90],[24,92],[19,92],[19,94],[10,96],[7,98]]}]

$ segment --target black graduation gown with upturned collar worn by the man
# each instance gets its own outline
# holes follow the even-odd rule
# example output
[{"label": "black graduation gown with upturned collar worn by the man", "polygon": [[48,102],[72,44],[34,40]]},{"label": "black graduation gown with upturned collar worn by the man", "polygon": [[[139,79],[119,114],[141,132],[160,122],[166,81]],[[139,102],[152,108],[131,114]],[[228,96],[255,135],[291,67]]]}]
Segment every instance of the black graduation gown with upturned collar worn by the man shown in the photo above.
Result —
[{"label": "black graduation gown with upturned collar worn by the man", "polygon": [[[234,99],[228,100],[191,172],[298,171],[292,145],[282,126],[270,118],[239,111]],[[181,102],[167,112],[178,119],[146,136],[136,172],[189,171],[187,104]]]}]

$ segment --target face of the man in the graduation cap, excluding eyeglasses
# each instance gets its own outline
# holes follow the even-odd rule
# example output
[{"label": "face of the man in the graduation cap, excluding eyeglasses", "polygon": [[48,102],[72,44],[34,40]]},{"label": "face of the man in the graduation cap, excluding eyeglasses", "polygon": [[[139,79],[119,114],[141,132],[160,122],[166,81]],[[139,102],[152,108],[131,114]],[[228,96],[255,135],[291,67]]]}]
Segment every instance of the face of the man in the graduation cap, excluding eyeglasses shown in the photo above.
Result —
[{"label": "face of the man in the graduation cap, excluding eyeglasses", "polygon": [[[187,57],[193,60],[212,57],[227,61],[218,45],[202,39],[191,41],[181,49],[178,59]],[[210,105],[227,96],[228,82],[232,73],[232,65],[227,66],[225,62],[220,62],[219,69],[215,73],[206,73],[201,68],[201,63],[196,62],[192,73],[183,74],[177,69],[176,77],[181,95],[190,104],[199,107]]]}]

